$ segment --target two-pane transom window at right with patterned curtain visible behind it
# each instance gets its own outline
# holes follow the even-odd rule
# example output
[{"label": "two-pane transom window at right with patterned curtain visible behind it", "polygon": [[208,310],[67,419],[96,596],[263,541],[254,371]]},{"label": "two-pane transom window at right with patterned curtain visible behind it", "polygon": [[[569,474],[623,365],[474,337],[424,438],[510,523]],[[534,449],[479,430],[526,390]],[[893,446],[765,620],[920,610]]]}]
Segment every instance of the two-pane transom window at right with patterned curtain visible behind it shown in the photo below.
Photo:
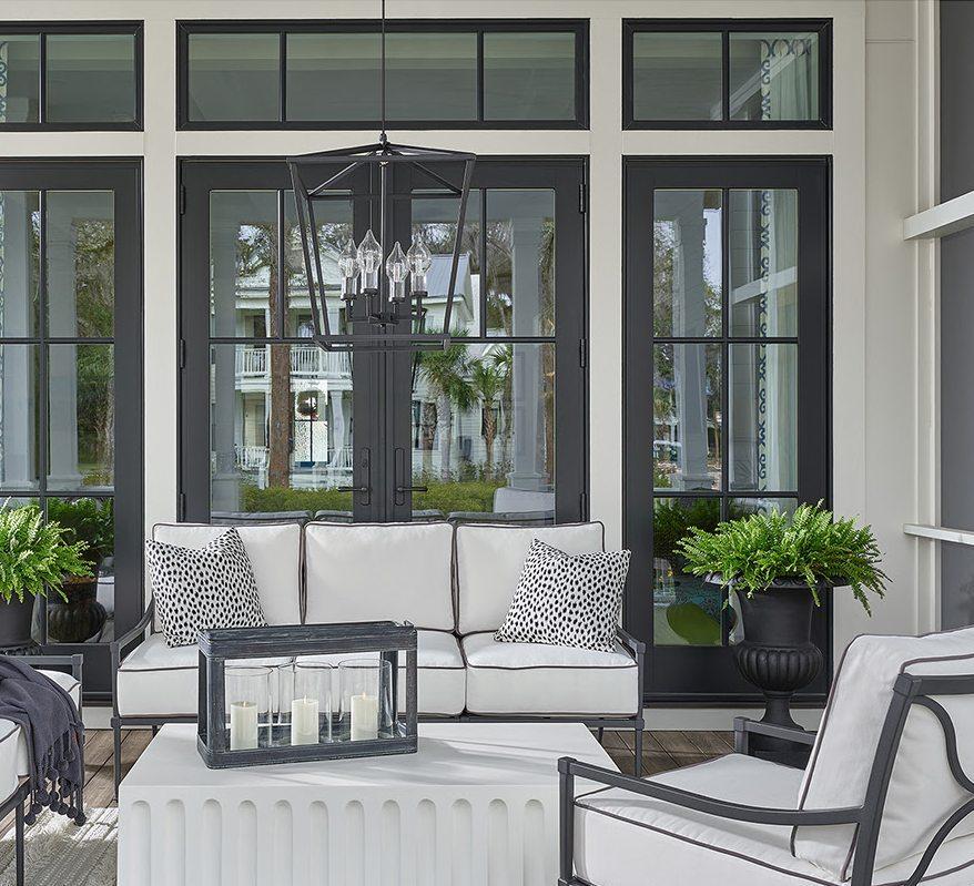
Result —
[{"label": "two-pane transom window at right with patterned curtain visible behind it", "polygon": [[627,129],[828,129],[832,24],[781,19],[629,20]]}]

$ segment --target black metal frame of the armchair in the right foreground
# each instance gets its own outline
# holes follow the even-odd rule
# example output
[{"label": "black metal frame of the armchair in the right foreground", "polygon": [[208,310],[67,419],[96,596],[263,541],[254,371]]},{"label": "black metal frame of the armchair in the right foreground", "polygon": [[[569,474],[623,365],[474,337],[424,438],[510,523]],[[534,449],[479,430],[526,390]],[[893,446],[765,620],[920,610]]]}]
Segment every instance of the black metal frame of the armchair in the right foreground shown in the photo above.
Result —
[{"label": "black metal frame of the armchair in the right foreground", "polygon": [[[971,794],[971,798],[955,809],[937,828],[913,873],[903,883],[903,886],[916,886],[933,862],[936,851],[947,839],[951,832],[960,822],[974,813],[974,781],[971,780],[961,765],[961,760],[957,755],[957,734],[953,721],[944,706],[934,696],[972,694],[974,694],[974,674],[950,676],[901,674],[897,678],[893,686],[893,699],[886,712],[875,757],[870,771],[865,801],[861,806],[832,809],[768,809],[714,800],[713,797],[694,794],[690,791],[655,782],[646,782],[630,775],[622,775],[600,766],[579,763],[571,757],[562,757],[558,761],[560,780],[558,884],[559,886],[598,886],[575,874],[575,808],[577,806],[575,780],[578,777],[598,782],[610,787],[619,787],[633,794],[729,821],[793,827],[854,824],[856,825],[858,834],[850,886],[871,886],[883,808],[886,802],[886,792],[890,787],[893,765],[896,761],[896,752],[900,747],[900,739],[912,706],[919,704],[933,713],[940,722],[944,733],[944,751],[951,773],[957,784]],[[784,739],[800,744],[812,744],[814,742],[813,733],[769,726],[743,719],[734,721],[734,746],[740,753],[748,753],[749,736],[752,733]]]}]

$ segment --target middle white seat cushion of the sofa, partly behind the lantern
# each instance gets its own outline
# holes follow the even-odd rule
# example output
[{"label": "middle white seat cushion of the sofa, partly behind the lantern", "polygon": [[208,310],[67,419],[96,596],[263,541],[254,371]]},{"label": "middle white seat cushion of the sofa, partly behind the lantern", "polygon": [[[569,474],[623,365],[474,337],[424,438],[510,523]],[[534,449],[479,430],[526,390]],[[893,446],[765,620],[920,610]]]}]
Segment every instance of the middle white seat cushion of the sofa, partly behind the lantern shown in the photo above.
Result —
[{"label": "middle white seat cushion of the sofa, partly behind the lantern", "polygon": [[[297,661],[325,661],[337,664],[339,655],[306,655]],[[364,656],[362,656],[364,658]],[[405,665],[399,669],[398,704],[406,703]],[[416,704],[422,716],[456,716],[466,703],[466,671],[457,639],[447,631],[416,632]]]}]

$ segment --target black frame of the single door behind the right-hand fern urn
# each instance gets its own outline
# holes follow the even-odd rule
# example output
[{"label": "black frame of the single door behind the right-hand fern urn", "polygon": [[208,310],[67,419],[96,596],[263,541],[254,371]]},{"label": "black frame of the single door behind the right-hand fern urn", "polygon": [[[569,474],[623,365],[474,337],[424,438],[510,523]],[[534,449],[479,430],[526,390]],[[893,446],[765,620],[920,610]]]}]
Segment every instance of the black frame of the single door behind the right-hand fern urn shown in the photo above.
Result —
[{"label": "black frame of the single door behind the right-hand fern urn", "polygon": [[[646,641],[645,700],[650,704],[757,704],[761,695],[739,674],[728,643],[729,625],[722,619],[722,645],[659,645],[653,643],[652,607],[652,513],[657,498],[717,498],[721,502],[743,498],[792,498],[799,502],[832,500],[832,259],[831,259],[831,156],[647,156],[626,155],[623,164],[623,428],[622,428],[622,521],[623,544],[632,551],[626,587],[622,622]],[[722,328],[716,336],[656,336],[652,325],[652,200],[635,198],[657,189],[730,190],[752,187],[798,189],[799,285],[802,293],[818,292],[821,302],[799,296],[799,326],[793,336],[755,337],[731,335],[729,286],[722,293]],[[813,197],[813,203],[806,198]],[[726,222],[722,225],[722,274],[729,279],[730,255]],[[811,255],[810,255],[811,253]],[[647,254],[650,256],[647,261]],[[653,378],[653,346],[657,344],[795,343],[798,363],[799,449],[794,490],[653,489],[651,447],[653,413],[647,409],[647,385]],[[721,373],[721,410],[728,415],[729,377]],[[651,398],[650,398],[651,401]],[[724,419],[726,420],[726,419]],[[724,426],[727,427],[727,426]],[[727,435],[722,434],[722,473],[728,469]],[[723,507],[723,505],[722,505]],[[726,510],[721,511],[726,513]],[[815,680],[795,694],[794,706],[824,703],[832,680],[833,601],[826,594],[815,612],[812,641],[825,656]]]}]

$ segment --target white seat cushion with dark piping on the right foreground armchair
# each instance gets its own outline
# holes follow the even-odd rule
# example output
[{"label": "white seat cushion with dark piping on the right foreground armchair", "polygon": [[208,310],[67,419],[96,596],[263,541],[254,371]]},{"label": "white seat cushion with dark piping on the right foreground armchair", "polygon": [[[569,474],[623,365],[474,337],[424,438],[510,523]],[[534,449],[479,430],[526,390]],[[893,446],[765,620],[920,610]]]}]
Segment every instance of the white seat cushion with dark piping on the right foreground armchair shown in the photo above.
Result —
[{"label": "white seat cushion with dark piping on the right foreground armchair", "polygon": [[[763,808],[794,808],[801,770],[730,754],[649,781]],[[599,886],[672,886],[691,877],[721,886],[839,884],[789,846],[789,828],[732,822],[609,788],[578,798],[576,873]],[[967,886],[974,838],[946,843],[931,886]],[[902,884],[919,859],[877,870],[876,886]],[[955,869],[956,868],[956,869]],[[952,873],[944,873],[952,872]]]}]

